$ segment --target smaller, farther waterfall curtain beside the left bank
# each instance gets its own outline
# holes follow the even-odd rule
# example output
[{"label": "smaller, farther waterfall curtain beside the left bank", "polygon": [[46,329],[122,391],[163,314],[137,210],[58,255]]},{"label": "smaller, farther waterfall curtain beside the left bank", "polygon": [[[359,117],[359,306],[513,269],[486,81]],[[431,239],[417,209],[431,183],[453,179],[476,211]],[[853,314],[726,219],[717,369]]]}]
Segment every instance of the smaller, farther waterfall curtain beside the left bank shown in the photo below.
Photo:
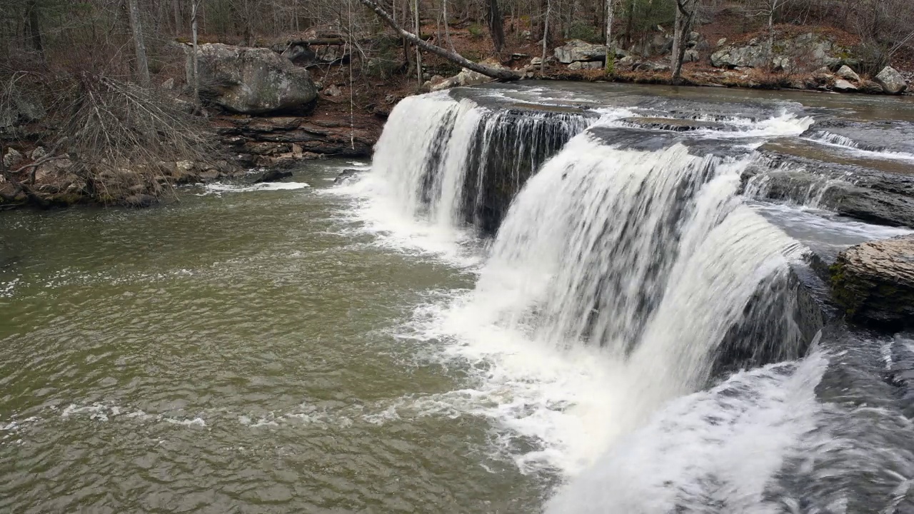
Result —
[{"label": "smaller, farther waterfall curtain beside the left bank", "polygon": [[405,216],[491,232],[526,179],[595,117],[492,111],[446,92],[409,97],[390,113],[373,175]]}]

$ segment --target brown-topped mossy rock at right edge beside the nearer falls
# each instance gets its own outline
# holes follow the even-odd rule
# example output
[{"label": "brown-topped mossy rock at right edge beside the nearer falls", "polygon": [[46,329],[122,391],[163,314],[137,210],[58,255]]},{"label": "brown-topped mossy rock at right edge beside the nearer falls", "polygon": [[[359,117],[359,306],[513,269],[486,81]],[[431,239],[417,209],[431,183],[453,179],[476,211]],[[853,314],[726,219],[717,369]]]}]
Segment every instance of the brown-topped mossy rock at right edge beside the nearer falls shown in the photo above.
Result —
[{"label": "brown-topped mossy rock at right edge beside the nearer falls", "polygon": [[851,321],[914,327],[914,237],[871,241],[838,254],[832,293]]}]

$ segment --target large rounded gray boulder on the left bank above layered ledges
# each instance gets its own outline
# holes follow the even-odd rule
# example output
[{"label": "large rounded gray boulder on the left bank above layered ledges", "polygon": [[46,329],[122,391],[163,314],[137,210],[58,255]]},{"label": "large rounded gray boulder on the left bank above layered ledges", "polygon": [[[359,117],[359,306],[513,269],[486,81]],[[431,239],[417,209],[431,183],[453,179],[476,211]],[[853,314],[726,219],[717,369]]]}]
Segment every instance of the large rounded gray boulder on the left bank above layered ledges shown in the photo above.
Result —
[{"label": "large rounded gray boulder on the left bank above layered ledges", "polygon": [[[193,80],[191,52],[188,83]],[[301,112],[314,106],[317,89],[308,70],[269,48],[207,44],[197,47],[197,55],[200,96],[207,102],[242,114]]]}]

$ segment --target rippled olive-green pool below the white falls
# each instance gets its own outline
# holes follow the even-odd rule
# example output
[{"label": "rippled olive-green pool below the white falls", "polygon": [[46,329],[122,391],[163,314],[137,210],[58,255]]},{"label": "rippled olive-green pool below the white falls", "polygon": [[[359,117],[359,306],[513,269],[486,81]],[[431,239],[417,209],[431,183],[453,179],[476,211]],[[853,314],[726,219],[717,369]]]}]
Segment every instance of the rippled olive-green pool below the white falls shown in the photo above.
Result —
[{"label": "rippled olive-green pool below the white falls", "polygon": [[0,215],[0,511],[538,508],[548,473],[462,409],[480,370],[398,336],[473,275],[377,245],[340,166]]}]

